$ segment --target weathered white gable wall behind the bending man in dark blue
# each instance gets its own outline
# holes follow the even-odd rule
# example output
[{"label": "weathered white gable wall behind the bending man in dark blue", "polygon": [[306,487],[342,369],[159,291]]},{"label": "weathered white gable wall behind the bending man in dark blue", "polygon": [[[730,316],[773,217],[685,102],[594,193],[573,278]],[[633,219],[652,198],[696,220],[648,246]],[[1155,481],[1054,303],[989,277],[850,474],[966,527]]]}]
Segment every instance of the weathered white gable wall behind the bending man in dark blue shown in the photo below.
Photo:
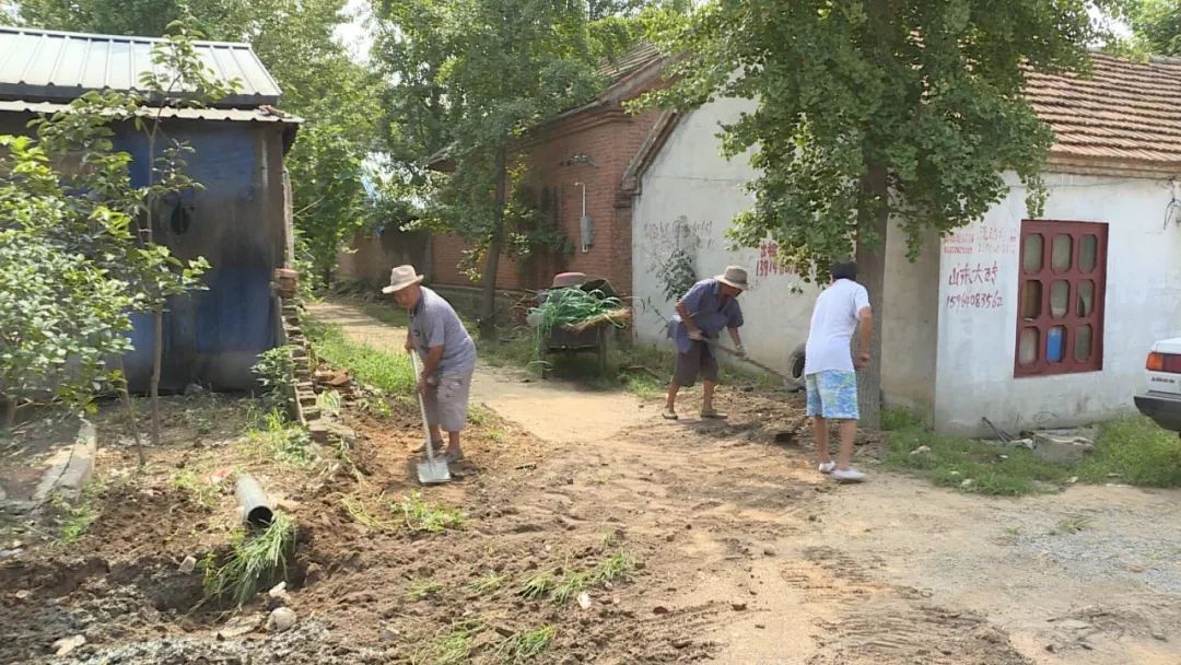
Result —
[{"label": "weathered white gable wall behind the bending man in dark blue", "polygon": [[722,157],[718,123],[752,109],[746,100],[720,99],[689,113],[648,167],[633,216],[635,333],[641,341],[667,344],[665,321],[673,314],[673,302],[664,296],[655,266],[679,246],[694,255],[699,279],[732,263],[750,272],[753,288],[739,300],[743,343],[752,358],[787,372],[789,356],[808,337],[816,291],[791,293],[792,286],[802,285],[800,278],[762,256],[774,243],[731,252],[725,239],[735,215],[753,203],[743,184],[755,170],[745,156]]}]

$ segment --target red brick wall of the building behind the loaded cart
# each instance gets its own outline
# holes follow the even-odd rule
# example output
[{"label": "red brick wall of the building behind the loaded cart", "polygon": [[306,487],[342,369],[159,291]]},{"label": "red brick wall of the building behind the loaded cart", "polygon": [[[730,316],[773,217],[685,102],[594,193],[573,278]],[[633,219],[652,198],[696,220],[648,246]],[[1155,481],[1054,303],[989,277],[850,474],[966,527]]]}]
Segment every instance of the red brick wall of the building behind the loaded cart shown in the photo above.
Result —
[{"label": "red brick wall of the building behind the loaded cart", "polygon": [[[629,116],[622,113],[618,104],[612,104],[555,123],[523,148],[529,164],[529,184],[539,190],[542,187],[556,190],[559,226],[575,249],[573,256],[560,263],[550,261],[536,266],[531,270],[534,274],[522,274],[516,261],[502,256],[496,279],[498,288],[540,288],[549,285],[554,273],[574,270],[606,278],[622,293],[632,291],[632,201],[621,194],[620,183],[658,118],[657,111]],[[588,155],[598,168],[567,164],[575,154]],[[576,182],[586,184],[587,214],[594,220],[595,239],[588,252],[580,247],[582,191],[575,187]],[[435,236],[432,276],[436,282],[472,283],[456,267],[463,248],[456,236]]]}]

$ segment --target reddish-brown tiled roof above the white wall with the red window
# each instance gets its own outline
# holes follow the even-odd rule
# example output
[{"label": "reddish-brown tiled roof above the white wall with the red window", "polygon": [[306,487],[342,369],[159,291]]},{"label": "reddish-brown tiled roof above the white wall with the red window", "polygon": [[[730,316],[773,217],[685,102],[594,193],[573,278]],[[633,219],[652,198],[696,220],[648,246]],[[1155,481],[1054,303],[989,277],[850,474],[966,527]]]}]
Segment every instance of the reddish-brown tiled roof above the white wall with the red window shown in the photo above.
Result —
[{"label": "reddish-brown tiled roof above the white wall with the red window", "polygon": [[1089,78],[1029,74],[1025,96],[1057,137],[1051,159],[1181,171],[1181,59],[1092,61]]}]

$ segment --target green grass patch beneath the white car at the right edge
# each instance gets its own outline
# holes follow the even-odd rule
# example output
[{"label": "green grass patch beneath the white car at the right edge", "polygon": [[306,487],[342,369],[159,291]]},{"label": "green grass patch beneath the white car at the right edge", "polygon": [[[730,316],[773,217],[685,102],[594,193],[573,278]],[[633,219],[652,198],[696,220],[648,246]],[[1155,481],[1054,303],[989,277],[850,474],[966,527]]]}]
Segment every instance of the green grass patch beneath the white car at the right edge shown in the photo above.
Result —
[{"label": "green grass patch beneath the white car at the right edge", "polygon": [[1181,437],[1142,416],[1100,425],[1095,452],[1078,467],[1079,480],[1144,487],[1181,487]]}]

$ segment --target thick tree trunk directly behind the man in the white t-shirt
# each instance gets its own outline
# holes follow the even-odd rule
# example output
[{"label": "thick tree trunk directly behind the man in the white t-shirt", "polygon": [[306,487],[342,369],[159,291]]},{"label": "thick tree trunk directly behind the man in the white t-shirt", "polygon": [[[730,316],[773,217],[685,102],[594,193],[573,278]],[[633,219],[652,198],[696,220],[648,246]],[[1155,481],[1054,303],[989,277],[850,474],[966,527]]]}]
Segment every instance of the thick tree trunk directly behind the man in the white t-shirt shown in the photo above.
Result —
[{"label": "thick tree trunk directly behind the man in the white t-shirt", "polygon": [[[869,292],[869,307],[874,313],[874,334],[870,338],[869,365],[857,376],[857,409],[861,424],[876,429],[882,410],[882,326],[886,320],[886,234],[889,230],[889,207],[886,206],[886,167],[869,164],[862,181],[867,194],[857,222],[857,281]],[[866,241],[862,241],[866,239]]]}]

